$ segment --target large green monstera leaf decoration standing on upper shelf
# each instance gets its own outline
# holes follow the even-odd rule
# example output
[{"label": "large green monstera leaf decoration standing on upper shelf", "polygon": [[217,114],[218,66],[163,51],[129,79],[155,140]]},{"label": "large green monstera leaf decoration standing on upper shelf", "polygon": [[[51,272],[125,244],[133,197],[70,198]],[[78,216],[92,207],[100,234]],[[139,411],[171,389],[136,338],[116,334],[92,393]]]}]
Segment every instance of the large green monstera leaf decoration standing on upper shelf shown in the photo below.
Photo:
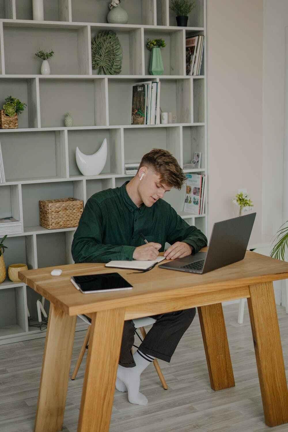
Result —
[{"label": "large green monstera leaf decoration standing on upper shelf", "polygon": [[91,43],[92,68],[99,69],[105,75],[116,75],[121,72],[122,47],[115,32],[104,30],[99,32]]}]

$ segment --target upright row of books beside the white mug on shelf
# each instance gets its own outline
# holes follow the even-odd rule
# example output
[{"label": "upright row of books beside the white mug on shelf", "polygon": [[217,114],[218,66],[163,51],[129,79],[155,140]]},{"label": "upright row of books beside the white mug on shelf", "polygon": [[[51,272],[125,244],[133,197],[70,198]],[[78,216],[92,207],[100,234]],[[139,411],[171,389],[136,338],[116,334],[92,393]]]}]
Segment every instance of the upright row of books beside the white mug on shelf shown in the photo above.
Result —
[{"label": "upright row of books beside the white mug on shelf", "polygon": [[160,84],[133,85],[131,124],[160,124]]}]

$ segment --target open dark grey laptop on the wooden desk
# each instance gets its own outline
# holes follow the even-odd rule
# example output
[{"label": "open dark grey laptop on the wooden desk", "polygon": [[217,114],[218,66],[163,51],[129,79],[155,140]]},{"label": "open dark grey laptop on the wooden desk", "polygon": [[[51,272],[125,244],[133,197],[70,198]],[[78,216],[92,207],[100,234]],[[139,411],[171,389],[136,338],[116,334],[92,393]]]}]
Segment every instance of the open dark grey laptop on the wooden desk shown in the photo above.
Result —
[{"label": "open dark grey laptop on the wooden desk", "polygon": [[243,260],[253,228],[256,213],[215,222],[208,251],[197,252],[158,267],[189,273],[207,273]]}]

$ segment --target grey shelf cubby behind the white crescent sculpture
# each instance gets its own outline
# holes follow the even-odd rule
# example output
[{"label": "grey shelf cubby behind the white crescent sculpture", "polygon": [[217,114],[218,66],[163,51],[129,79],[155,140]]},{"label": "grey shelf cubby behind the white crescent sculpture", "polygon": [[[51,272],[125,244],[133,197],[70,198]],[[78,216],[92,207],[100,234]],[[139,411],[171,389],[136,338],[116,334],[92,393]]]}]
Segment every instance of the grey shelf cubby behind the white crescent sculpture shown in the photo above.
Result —
[{"label": "grey shelf cubby behind the white crescent sculpture", "polygon": [[68,130],[70,177],[82,175],[76,164],[76,147],[78,146],[79,150],[85,155],[91,155],[98,151],[104,138],[107,139],[108,156],[101,174],[122,174],[123,161],[121,156],[120,129]]}]

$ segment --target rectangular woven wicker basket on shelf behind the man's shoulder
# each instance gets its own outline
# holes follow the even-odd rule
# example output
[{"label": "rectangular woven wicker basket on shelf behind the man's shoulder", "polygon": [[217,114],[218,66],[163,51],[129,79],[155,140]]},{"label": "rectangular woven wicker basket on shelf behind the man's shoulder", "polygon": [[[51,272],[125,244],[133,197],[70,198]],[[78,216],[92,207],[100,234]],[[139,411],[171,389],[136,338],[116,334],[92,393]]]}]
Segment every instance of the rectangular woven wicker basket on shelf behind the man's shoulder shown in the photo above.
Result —
[{"label": "rectangular woven wicker basket on shelf behind the man's shoulder", "polygon": [[83,211],[83,201],[76,198],[63,200],[40,200],[40,225],[47,229],[78,226]]}]

